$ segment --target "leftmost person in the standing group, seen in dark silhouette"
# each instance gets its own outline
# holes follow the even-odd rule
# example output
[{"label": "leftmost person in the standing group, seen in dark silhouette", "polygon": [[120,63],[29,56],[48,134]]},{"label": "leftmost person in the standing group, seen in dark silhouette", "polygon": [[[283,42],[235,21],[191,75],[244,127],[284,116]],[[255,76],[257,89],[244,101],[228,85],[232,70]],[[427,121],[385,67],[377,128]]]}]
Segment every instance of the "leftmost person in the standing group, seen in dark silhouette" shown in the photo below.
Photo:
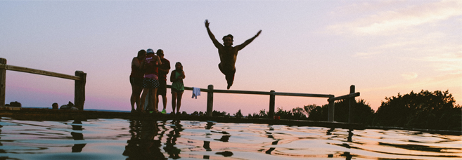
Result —
[{"label": "leftmost person in the standing group, seen in dark silhouette", "polygon": [[130,74],[130,84],[131,84],[131,112],[135,111],[135,103],[136,109],[141,110],[140,108],[140,98],[141,91],[143,91],[143,78],[144,78],[144,71],[140,69],[141,61],[144,60],[146,57],[146,51],[140,50],[138,51],[138,56],[134,57],[131,60],[131,74]]}]

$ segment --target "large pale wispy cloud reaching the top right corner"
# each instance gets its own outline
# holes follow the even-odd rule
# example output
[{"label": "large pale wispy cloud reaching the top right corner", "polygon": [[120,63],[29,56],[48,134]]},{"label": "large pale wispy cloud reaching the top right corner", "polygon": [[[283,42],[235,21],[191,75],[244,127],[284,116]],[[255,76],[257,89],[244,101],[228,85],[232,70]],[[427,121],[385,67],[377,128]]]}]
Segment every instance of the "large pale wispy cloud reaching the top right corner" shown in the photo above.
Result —
[{"label": "large pale wispy cloud reaching the top right corner", "polygon": [[[370,4],[368,4],[370,6]],[[462,15],[462,1],[439,1],[408,8],[379,11],[352,22],[331,25],[339,34],[390,35],[410,31],[409,27],[425,25]]]}]

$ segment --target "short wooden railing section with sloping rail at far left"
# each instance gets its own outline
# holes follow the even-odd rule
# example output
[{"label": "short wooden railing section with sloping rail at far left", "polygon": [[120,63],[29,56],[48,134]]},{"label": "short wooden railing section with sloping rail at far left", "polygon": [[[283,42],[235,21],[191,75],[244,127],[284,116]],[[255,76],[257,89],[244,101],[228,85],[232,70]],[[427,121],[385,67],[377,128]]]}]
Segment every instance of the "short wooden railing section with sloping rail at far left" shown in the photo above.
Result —
[{"label": "short wooden railing section with sloping rail at far left", "polygon": [[31,74],[41,74],[45,76],[54,76],[62,79],[72,79],[75,80],[75,97],[74,103],[75,107],[79,109],[84,109],[85,102],[85,83],[86,83],[86,73],[82,71],[75,71],[75,76],[68,74],[60,74],[55,72],[48,72],[39,69],[32,69],[26,67],[18,67],[14,65],[6,65],[6,59],[0,58],[0,107],[5,106],[5,89],[6,89],[6,70],[17,71],[17,72],[26,72]]}]

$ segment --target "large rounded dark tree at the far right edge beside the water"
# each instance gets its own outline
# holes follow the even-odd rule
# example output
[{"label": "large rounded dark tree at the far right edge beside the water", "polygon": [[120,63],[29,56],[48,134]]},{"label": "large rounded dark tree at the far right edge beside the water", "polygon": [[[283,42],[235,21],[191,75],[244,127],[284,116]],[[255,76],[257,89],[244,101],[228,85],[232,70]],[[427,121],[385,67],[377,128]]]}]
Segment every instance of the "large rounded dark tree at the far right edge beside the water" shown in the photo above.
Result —
[{"label": "large rounded dark tree at the far right edge beside the water", "polygon": [[449,91],[421,91],[385,98],[375,126],[461,130],[462,110]]}]

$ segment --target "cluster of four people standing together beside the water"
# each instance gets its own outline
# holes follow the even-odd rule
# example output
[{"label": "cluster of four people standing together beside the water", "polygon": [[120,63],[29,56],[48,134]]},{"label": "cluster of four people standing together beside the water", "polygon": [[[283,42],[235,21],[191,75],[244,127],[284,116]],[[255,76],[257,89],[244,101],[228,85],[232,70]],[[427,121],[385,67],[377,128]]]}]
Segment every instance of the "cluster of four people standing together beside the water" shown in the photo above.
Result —
[{"label": "cluster of four people standing together beside the water", "polygon": [[[160,95],[164,107],[160,113],[167,113],[167,74],[169,70],[170,62],[164,58],[162,49],[159,49],[156,53],[150,48],[146,51],[140,50],[138,52],[138,55],[131,60],[131,112],[145,113],[148,110],[150,113],[157,113]],[[170,74],[170,81],[172,82],[172,114],[175,114],[175,110],[179,113],[181,97],[184,93],[183,79],[185,77],[183,65],[181,65],[181,62],[177,62],[175,69]],[[145,109],[146,97],[148,97],[148,102],[150,103]]]}]

